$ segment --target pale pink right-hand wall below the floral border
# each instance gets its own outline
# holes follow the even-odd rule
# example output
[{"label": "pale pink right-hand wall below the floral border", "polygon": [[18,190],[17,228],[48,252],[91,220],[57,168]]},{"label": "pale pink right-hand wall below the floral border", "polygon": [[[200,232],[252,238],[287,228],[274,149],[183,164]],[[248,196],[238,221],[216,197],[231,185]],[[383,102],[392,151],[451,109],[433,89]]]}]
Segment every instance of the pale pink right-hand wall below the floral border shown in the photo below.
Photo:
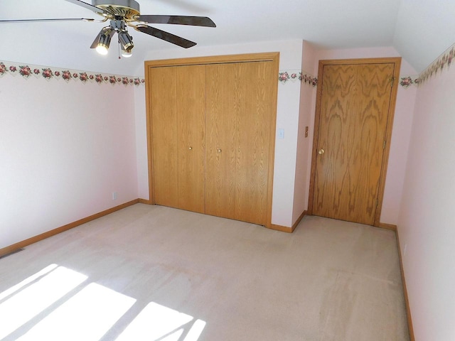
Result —
[{"label": "pale pink right-hand wall below the floral border", "polygon": [[417,90],[398,222],[417,341],[455,340],[455,67]]}]

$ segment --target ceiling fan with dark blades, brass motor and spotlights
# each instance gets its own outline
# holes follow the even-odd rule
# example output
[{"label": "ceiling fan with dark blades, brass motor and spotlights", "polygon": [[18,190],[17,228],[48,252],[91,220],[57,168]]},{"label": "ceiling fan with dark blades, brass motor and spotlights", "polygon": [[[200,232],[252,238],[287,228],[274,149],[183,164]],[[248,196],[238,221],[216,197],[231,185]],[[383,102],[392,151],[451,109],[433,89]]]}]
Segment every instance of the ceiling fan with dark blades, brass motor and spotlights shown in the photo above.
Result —
[{"label": "ceiling fan with dark blades, brass motor and spotlights", "polygon": [[0,23],[23,23],[32,21],[91,21],[104,23],[109,20],[109,26],[102,28],[90,48],[95,48],[97,52],[102,55],[107,54],[112,36],[114,36],[115,33],[118,33],[119,45],[122,48],[122,55],[124,57],[131,56],[132,48],[134,48],[133,38],[129,35],[127,26],[134,28],[136,31],[166,40],[169,43],[181,46],[182,48],[191,48],[191,46],[196,45],[196,43],[175,36],[172,33],[161,31],[158,28],[148,26],[147,24],[169,23],[173,25],[216,27],[215,23],[206,16],[141,15],[139,3],[134,0],[92,0],[92,4],[87,4],[80,0],[65,1],[82,6],[85,9],[90,9],[90,11],[99,14],[103,18],[98,20],[92,18],[16,19],[0,20]]}]

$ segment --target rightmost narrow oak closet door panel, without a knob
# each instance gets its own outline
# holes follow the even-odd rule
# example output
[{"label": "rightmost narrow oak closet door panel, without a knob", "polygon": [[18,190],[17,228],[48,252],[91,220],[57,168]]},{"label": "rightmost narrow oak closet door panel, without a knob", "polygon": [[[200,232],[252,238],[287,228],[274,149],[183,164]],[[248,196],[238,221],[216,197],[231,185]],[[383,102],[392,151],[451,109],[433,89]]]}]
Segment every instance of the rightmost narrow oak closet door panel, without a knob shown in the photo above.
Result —
[{"label": "rightmost narrow oak closet door panel, without a knob", "polygon": [[239,63],[235,219],[266,224],[269,141],[275,82],[272,63]]}]

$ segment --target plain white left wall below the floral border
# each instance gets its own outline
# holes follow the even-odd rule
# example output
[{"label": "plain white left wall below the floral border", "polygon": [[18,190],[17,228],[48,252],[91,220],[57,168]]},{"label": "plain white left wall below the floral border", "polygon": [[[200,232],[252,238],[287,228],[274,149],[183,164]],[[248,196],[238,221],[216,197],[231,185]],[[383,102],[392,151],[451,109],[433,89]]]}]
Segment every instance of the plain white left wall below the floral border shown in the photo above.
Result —
[{"label": "plain white left wall below the floral border", "polygon": [[132,85],[0,78],[0,248],[137,199],[133,98]]}]

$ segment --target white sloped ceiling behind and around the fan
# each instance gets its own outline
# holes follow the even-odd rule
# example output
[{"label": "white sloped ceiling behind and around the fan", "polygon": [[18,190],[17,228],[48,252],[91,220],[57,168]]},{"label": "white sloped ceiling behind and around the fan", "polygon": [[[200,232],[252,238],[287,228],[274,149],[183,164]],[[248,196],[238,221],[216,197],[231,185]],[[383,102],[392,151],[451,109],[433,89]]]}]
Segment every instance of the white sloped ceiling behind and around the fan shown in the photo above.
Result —
[{"label": "white sloped ceiling behind and around the fan", "polygon": [[[90,0],[87,2],[91,3]],[[453,0],[139,0],[141,14],[209,16],[216,28],[154,25],[199,46],[301,39],[320,48],[393,46],[417,72],[455,42]],[[65,0],[1,0],[0,20],[97,18]],[[90,45],[106,23],[1,23],[0,60],[132,75],[147,52],[180,47],[133,31],[133,58]]]}]

